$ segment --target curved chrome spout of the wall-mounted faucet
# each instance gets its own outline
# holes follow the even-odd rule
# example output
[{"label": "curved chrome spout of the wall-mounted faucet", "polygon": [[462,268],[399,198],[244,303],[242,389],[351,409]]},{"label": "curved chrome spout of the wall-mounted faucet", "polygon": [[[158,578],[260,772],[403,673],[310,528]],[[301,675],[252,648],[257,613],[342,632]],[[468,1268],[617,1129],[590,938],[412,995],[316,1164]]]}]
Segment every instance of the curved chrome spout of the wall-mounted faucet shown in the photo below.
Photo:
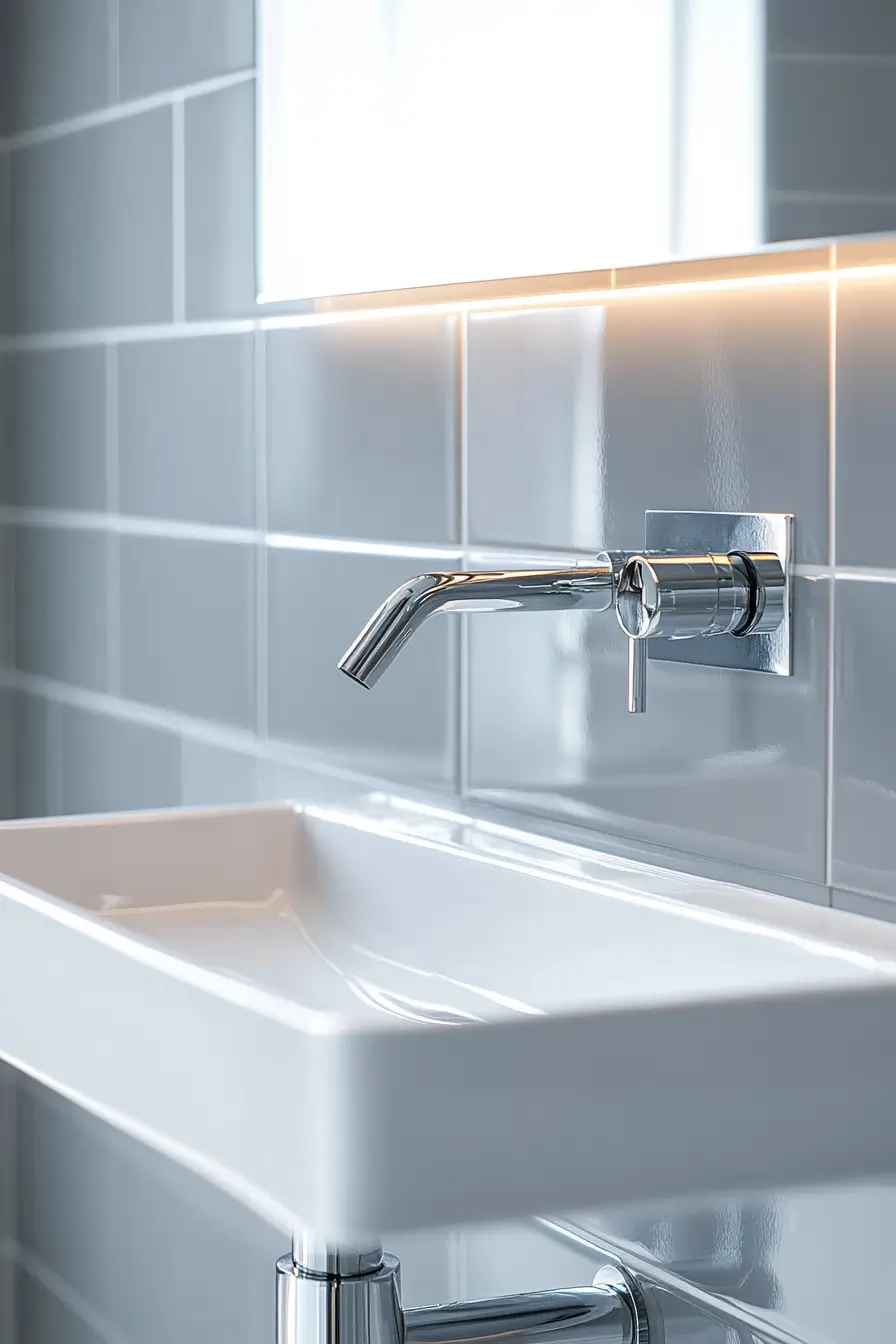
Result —
[{"label": "curved chrome spout of the wall-mounted faucet", "polygon": [[340,672],[369,689],[437,612],[607,612],[623,562],[622,552],[604,552],[595,564],[571,570],[418,574],[377,607],[340,659]]}]

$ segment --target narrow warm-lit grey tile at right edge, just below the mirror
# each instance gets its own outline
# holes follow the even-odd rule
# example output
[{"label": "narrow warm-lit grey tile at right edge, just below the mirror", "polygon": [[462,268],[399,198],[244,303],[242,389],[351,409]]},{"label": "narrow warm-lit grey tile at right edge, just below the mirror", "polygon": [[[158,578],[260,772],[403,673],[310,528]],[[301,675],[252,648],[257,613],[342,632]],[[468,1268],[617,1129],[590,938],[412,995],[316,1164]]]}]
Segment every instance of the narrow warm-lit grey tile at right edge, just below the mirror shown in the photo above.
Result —
[{"label": "narrow warm-lit grey tile at right edge, just below the mirror", "polygon": [[896,282],[844,280],[837,300],[837,563],[892,569]]}]

